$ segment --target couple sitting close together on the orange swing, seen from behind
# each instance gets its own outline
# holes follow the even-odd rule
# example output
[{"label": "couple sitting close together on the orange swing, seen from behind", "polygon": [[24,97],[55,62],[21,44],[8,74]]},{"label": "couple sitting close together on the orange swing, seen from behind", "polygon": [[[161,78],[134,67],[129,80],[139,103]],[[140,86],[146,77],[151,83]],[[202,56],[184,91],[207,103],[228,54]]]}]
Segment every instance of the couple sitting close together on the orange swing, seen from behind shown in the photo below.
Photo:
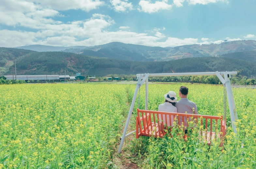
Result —
[{"label": "couple sitting close together on the orange swing, seen from behind", "polygon": [[[180,100],[177,101],[176,93],[173,91],[168,92],[164,95],[165,102],[163,104],[160,104],[158,106],[158,111],[165,111],[165,112],[173,112],[173,113],[185,113],[188,114],[198,114],[197,112],[197,106],[194,102],[188,100],[188,87],[181,86],[179,90],[179,96]],[[166,124],[167,126],[170,126],[170,120],[169,115],[167,115],[167,120],[165,119],[165,116],[163,116],[163,119],[160,120],[162,123]],[[171,116],[171,121],[173,123],[173,116]],[[167,123],[166,123],[167,122]],[[182,123],[182,117],[180,117],[180,122]],[[187,124],[187,117],[184,117],[184,126],[185,126],[185,134],[188,133],[188,130],[186,127]],[[162,125],[160,125],[160,130],[162,131]]]}]

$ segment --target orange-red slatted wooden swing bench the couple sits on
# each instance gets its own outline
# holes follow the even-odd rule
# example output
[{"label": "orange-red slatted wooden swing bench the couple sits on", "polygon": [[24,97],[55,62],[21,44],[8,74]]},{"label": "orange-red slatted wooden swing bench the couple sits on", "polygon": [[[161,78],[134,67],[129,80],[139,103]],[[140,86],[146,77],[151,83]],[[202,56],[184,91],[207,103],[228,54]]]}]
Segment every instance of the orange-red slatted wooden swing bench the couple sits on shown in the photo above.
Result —
[{"label": "orange-red slatted wooden swing bench the couple sits on", "polygon": [[[167,115],[169,115],[170,118],[167,118]],[[139,138],[140,136],[149,136],[149,137],[153,136],[153,137],[162,138],[163,136],[165,136],[169,131],[167,130],[166,132],[166,130],[162,130],[162,131],[160,130],[160,125],[162,125],[162,129],[165,129],[164,124],[160,122],[161,120],[159,120],[159,119],[163,119],[163,117],[165,117],[166,121],[170,121],[170,126],[173,125],[171,117],[173,117],[173,119],[176,118],[175,122],[179,126],[182,125],[181,124],[182,122],[180,121],[181,119],[183,122],[184,122],[184,119],[185,120],[187,119],[187,121],[189,122],[191,121],[191,118],[194,119],[193,120],[194,123],[198,123],[198,121],[201,121],[203,130],[199,131],[199,135],[198,135],[199,138],[203,137],[204,141],[207,142],[208,145],[211,144],[212,140],[220,138],[220,141],[221,141],[220,146],[223,146],[224,137],[227,129],[224,123],[224,120],[222,120],[223,116],[171,113],[171,112],[163,112],[163,111],[137,109],[136,138]],[[208,120],[210,123],[208,123]],[[215,128],[214,131],[213,131],[213,127]],[[172,127],[170,127],[170,130],[172,130]],[[185,130],[184,127],[183,127],[183,130]],[[171,134],[169,136],[171,136]],[[188,132],[188,135],[184,135],[183,138],[187,140],[188,136],[189,136],[189,132]]]}]

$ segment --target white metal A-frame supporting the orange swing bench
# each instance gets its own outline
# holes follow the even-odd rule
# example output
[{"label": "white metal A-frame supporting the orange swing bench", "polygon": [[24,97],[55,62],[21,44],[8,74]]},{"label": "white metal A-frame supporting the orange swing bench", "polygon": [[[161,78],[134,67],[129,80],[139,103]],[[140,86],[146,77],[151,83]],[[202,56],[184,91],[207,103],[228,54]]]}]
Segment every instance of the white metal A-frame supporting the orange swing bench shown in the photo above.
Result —
[{"label": "white metal A-frame supporting the orange swing bench", "polygon": [[[134,95],[132,98],[130,110],[129,110],[128,117],[127,117],[126,124],[125,124],[125,129],[124,129],[122,137],[120,137],[121,142],[120,142],[120,146],[118,149],[118,153],[121,153],[125,138],[132,136],[133,133],[135,132],[135,131],[132,131],[132,132],[126,134],[128,125],[130,122],[132,110],[134,107],[134,103],[135,103],[135,100],[136,100],[136,97],[138,94],[138,90],[144,84],[144,82],[146,85],[146,88],[145,88],[145,110],[148,109],[148,107],[147,107],[148,77],[152,77],[152,76],[157,77],[157,76],[214,76],[214,75],[216,75],[218,77],[218,79],[220,80],[220,82],[226,88],[228,103],[229,103],[230,118],[231,118],[231,122],[232,122],[232,128],[233,128],[234,133],[236,133],[236,126],[235,126],[234,122],[236,120],[238,120],[238,117],[237,117],[237,113],[236,113],[234,96],[233,96],[232,87],[231,87],[231,83],[230,83],[231,75],[236,75],[236,74],[237,74],[237,72],[218,72],[218,71],[217,72],[195,72],[195,73],[144,73],[144,74],[137,74],[136,79],[138,79],[138,83],[136,85]],[[222,77],[222,75],[224,75],[224,78]]]}]

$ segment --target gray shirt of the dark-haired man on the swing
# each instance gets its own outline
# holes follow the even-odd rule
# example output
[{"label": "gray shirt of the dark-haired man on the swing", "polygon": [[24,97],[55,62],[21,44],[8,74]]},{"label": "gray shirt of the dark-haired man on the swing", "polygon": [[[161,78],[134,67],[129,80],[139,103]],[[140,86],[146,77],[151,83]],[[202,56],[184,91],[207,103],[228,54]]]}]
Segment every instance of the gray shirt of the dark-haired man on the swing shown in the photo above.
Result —
[{"label": "gray shirt of the dark-haired man on the swing", "polygon": [[[196,104],[188,100],[188,98],[181,98],[175,103],[175,107],[177,108],[178,113],[185,113],[187,111],[188,114],[193,114],[194,108],[194,114],[198,114]],[[182,118],[180,118],[180,121],[182,122]],[[184,121],[184,126],[187,127],[187,117],[185,117]]]}]

